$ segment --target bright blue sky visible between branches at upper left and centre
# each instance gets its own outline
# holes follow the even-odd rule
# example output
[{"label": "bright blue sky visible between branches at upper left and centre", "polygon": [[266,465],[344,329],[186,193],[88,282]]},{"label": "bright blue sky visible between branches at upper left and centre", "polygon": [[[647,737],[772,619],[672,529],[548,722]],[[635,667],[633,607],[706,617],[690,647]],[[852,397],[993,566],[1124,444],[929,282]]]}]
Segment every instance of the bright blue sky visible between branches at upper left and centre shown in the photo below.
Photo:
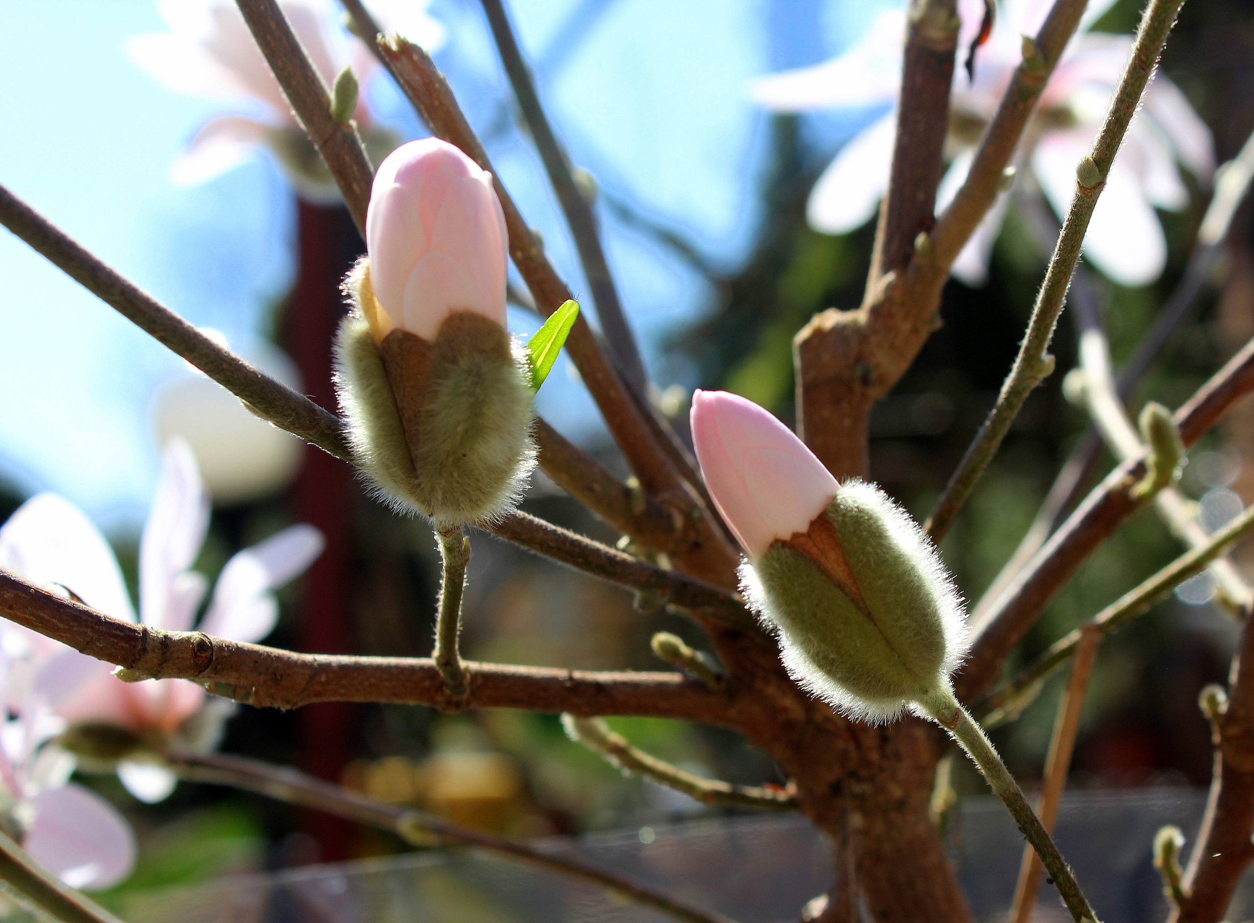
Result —
[{"label": "bright blue sky visible between branches at upper left and centre", "polygon": [[[573,161],[729,267],[760,218],[766,117],[746,102],[746,80],[834,54],[874,8],[512,4]],[[436,60],[472,122],[499,123],[508,88],[478,4],[436,0],[431,11],[450,33]],[[184,317],[246,347],[291,277],[292,197],[278,171],[258,157],[201,187],[169,182],[187,139],[221,108],[163,89],[127,58],[129,36],[163,28],[150,0],[5,0],[5,18],[0,85],[10,92],[0,97],[0,182]],[[568,40],[572,30],[578,41]],[[11,90],[18,87],[25,92]],[[393,88],[380,80],[369,92],[385,119],[419,133]],[[834,148],[851,125],[820,119],[814,128]],[[527,140],[507,132],[489,145],[581,291],[573,247]],[[606,237],[647,361],[665,377],[682,377],[682,367],[662,367],[656,345],[703,310],[709,292],[673,256],[611,218]],[[152,394],[179,374],[181,360],[8,233],[0,233],[0,479],[21,493],[61,492],[107,528],[133,528],[155,477]],[[533,324],[517,320],[520,332]],[[582,388],[562,374],[551,382],[542,413],[572,435],[592,433],[597,421]]]}]

